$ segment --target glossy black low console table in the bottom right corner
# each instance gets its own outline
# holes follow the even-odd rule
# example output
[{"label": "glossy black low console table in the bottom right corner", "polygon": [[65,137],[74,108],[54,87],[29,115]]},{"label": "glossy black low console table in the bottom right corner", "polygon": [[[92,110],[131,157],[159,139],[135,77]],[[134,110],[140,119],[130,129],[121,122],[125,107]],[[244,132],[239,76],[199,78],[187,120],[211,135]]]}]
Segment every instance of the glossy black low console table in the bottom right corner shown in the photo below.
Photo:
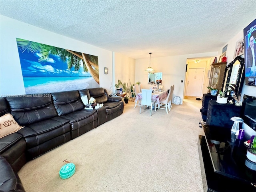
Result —
[{"label": "glossy black low console table in the bottom right corner", "polygon": [[230,129],[204,126],[199,135],[208,192],[256,192],[256,171],[245,166],[244,140],[230,142]]}]

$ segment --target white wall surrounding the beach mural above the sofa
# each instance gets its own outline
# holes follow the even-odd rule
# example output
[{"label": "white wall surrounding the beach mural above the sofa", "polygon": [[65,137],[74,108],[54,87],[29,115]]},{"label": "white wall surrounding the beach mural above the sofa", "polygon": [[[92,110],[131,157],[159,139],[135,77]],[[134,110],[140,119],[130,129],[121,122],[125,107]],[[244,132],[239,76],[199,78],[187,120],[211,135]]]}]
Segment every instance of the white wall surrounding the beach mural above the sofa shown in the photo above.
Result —
[{"label": "white wall surrounding the beach mural above the sofa", "polygon": [[[100,87],[112,93],[112,52],[29,24],[0,16],[0,95],[25,94],[16,38],[98,56]],[[104,67],[108,74],[104,74]]]}]

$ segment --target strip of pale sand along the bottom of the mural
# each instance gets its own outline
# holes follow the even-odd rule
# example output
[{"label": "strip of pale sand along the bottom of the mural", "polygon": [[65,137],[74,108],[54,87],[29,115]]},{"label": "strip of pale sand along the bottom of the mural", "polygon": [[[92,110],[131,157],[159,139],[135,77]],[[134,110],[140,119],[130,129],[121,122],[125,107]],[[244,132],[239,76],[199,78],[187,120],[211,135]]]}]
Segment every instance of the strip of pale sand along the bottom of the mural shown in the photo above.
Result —
[{"label": "strip of pale sand along the bottom of the mural", "polygon": [[65,82],[54,82],[50,84],[25,87],[26,94],[50,93],[60,91],[79,90],[86,88],[97,88],[99,84],[93,78],[70,80]]}]

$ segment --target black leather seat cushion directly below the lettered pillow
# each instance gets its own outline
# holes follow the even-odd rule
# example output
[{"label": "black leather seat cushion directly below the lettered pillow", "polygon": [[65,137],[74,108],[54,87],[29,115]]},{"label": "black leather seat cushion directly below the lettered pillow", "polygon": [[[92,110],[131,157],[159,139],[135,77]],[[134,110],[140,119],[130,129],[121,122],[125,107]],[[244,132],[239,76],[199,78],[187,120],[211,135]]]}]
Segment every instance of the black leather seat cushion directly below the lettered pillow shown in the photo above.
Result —
[{"label": "black leather seat cushion directly below the lettered pillow", "polygon": [[10,147],[14,146],[19,140],[21,140],[23,136],[19,133],[12,133],[1,138],[0,142],[0,152],[1,154],[8,150]]}]

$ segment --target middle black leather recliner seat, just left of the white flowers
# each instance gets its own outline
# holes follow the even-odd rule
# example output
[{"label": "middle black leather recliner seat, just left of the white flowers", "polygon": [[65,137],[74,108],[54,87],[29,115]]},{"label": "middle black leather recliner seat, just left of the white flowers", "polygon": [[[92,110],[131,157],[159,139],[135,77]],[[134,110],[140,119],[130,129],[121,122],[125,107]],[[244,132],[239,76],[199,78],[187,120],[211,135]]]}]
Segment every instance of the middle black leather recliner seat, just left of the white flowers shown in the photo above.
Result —
[{"label": "middle black leather recliner seat, just left of the white flowers", "polygon": [[71,139],[98,126],[96,110],[85,110],[78,90],[51,93],[58,116],[71,125]]}]

